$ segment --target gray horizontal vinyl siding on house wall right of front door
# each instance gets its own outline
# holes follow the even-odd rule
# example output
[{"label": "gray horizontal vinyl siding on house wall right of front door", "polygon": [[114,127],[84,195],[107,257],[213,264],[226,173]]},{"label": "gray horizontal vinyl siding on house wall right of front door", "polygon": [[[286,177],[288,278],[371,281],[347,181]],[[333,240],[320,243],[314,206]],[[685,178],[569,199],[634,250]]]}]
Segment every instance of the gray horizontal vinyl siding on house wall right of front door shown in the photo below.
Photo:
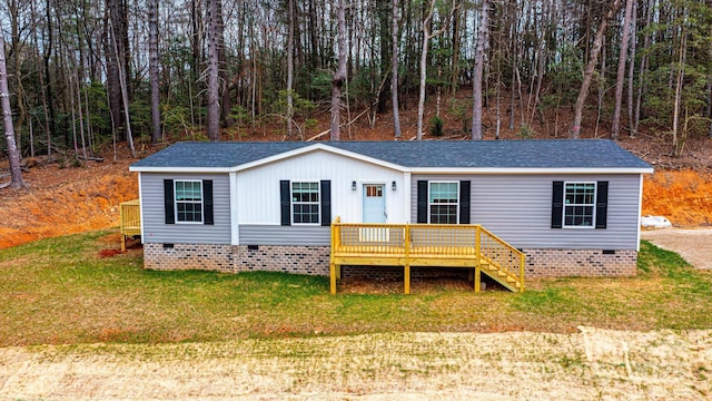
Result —
[{"label": "gray horizontal vinyl siding on house wall right of front door", "polygon": [[[418,180],[471,180],[471,223],[518,248],[635,250],[640,175],[413,175],[411,218],[417,221]],[[609,182],[606,228],[551,228],[552,183]]]}]

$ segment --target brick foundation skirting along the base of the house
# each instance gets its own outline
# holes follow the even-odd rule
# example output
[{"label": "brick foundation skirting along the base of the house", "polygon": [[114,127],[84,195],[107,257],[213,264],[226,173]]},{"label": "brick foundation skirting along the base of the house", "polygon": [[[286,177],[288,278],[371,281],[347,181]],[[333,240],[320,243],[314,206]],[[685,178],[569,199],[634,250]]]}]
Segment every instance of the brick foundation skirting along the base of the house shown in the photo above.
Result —
[{"label": "brick foundation skirting along the base of the house", "polygon": [[[206,270],[225,273],[253,271],[329,275],[329,246],[144,244],[149,270]],[[635,250],[524,250],[526,277],[633,276]],[[461,276],[467,268],[414,267],[413,277]],[[402,278],[398,266],[343,266],[342,276]]]}]

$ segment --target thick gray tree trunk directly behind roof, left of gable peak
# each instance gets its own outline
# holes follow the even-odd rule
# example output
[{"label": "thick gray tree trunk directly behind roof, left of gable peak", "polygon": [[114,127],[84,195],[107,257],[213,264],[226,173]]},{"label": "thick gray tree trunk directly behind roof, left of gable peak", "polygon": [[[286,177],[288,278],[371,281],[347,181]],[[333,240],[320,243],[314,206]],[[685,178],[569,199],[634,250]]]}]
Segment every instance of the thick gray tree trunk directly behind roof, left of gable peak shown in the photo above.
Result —
[{"label": "thick gray tree trunk directly behind roof, left of gable peak", "polygon": [[220,82],[219,82],[219,29],[218,2],[208,1],[208,138],[212,141],[220,140]]}]

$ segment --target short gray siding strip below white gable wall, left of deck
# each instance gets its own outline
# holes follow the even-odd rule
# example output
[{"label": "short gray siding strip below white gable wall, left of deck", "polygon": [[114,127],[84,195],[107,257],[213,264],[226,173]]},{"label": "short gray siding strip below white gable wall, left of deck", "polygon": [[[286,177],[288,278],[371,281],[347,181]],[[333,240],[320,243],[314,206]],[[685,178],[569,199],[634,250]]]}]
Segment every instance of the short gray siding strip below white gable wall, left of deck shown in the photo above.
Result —
[{"label": "short gray siding strip below white gable wall, left of deck", "polygon": [[241,245],[329,245],[330,227],[240,225]]}]

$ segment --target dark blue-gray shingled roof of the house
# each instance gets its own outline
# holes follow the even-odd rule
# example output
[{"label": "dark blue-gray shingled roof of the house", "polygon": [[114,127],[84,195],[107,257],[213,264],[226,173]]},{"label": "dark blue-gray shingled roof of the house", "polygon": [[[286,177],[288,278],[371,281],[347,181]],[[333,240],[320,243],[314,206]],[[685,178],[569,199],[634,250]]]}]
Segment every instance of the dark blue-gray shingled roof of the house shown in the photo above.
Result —
[{"label": "dark blue-gray shingled roof of the house", "polygon": [[[132,167],[229,168],[317,143],[178,143]],[[610,140],[318,143],[409,168],[651,168]]]}]

